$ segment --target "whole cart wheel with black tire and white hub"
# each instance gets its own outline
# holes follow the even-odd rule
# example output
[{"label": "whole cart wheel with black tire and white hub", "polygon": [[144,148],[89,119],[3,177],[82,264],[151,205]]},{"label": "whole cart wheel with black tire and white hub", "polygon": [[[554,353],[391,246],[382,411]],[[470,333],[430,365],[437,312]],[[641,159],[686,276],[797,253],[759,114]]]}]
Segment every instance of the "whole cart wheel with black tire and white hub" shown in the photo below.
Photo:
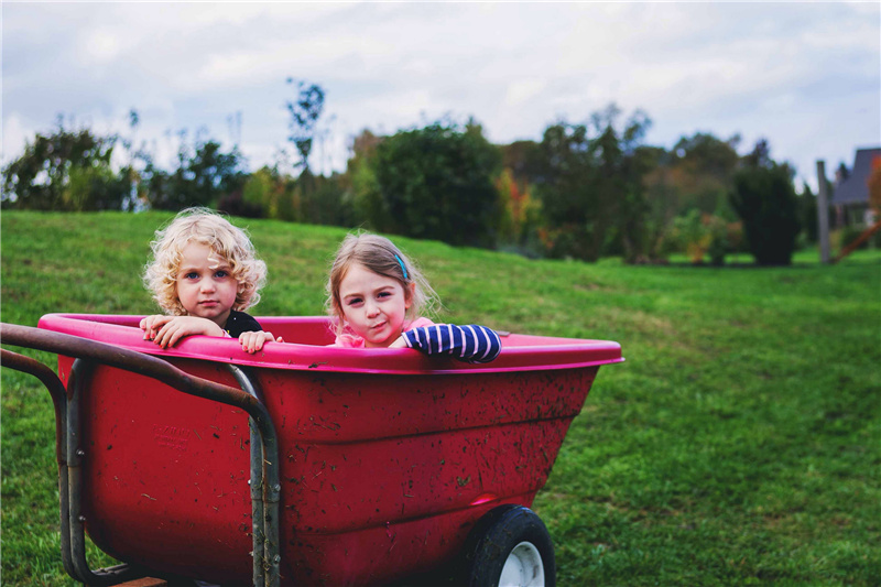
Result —
[{"label": "whole cart wheel with black tire and white hub", "polygon": [[478,520],[465,544],[460,583],[468,587],[554,587],[554,545],[542,519],[500,506]]}]

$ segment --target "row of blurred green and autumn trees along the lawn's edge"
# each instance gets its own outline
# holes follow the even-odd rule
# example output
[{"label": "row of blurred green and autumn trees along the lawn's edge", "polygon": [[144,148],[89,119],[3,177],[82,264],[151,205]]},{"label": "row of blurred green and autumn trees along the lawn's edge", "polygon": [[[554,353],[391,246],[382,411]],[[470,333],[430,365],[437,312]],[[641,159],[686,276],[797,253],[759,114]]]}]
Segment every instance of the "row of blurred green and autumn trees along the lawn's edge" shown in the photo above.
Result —
[{"label": "row of blurred green and autumn trees along the lawn's edge", "polygon": [[[796,193],[794,170],[759,141],[683,137],[644,142],[651,119],[610,105],[587,120],[557,120],[540,141],[497,145],[474,119],[450,118],[390,135],[355,137],[344,172],[316,175],[308,160],[324,108],[317,85],[289,79],[289,141],[273,165],[249,172],[238,146],[181,131],[176,162],[162,169],[144,145],[58,119],[2,171],[4,209],[177,210],[362,226],[413,238],[530,257],[663,262],[686,252],[721,264],[748,251],[788,264],[816,240],[816,199]],[[139,124],[137,112],[129,127]]]}]

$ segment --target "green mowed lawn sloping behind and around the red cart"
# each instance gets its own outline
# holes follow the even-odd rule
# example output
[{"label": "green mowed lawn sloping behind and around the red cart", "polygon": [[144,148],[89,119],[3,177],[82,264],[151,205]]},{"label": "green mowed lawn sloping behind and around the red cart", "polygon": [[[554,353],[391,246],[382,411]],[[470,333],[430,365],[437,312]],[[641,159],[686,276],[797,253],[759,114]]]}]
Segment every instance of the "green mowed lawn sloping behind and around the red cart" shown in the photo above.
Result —
[{"label": "green mowed lawn sloping behind and around the red cart", "polygon": [[[140,273],[170,217],[3,213],[2,320],[155,312]],[[236,222],[270,268],[253,313],[322,314],[345,231]],[[881,254],[628,267],[394,240],[450,322],[623,347],[627,362],[600,369],[534,503],[561,586],[879,585]],[[4,585],[72,584],[53,439],[48,394],[3,369]]]}]

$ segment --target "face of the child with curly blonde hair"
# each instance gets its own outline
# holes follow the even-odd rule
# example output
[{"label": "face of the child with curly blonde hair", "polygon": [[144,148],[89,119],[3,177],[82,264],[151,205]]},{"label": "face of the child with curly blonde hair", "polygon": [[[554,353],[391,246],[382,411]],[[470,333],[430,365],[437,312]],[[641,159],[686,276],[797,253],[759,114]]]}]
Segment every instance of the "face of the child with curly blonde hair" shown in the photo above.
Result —
[{"label": "face of the child with curly blonde hair", "polygon": [[181,251],[177,269],[177,297],[191,316],[208,318],[226,326],[236,303],[239,284],[225,259],[210,247],[189,242]]}]

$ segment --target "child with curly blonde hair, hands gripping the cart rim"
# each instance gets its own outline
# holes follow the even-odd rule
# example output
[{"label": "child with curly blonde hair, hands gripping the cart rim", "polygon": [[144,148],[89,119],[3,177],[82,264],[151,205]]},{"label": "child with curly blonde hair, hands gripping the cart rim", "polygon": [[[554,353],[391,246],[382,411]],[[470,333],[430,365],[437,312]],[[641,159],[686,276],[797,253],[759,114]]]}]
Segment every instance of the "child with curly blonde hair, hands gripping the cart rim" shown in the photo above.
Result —
[{"label": "child with curly blonde hair, hands gripping the cart rim", "polygon": [[249,352],[263,347],[263,328],[244,309],[260,301],[267,264],[243,230],[208,208],[188,208],[150,246],[143,280],[166,314],[141,320],[144,340],[167,348],[192,335],[231,336]]}]

